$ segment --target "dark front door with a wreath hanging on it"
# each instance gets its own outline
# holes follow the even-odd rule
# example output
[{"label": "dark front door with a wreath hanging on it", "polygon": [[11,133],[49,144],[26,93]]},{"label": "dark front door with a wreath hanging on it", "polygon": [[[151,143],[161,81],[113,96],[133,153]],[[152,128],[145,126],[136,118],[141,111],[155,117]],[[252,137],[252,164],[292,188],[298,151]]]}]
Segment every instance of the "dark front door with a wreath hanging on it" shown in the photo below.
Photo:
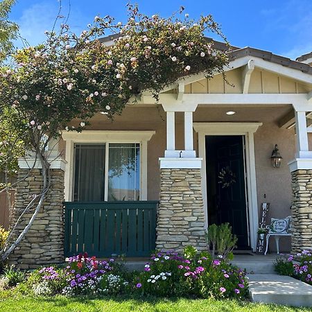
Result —
[{"label": "dark front door with a wreath hanging on it", "polygon": [[238,238],[238,249],[247,249],[243,136],[207,136],[206,152],[208,222],[229,223]]}]

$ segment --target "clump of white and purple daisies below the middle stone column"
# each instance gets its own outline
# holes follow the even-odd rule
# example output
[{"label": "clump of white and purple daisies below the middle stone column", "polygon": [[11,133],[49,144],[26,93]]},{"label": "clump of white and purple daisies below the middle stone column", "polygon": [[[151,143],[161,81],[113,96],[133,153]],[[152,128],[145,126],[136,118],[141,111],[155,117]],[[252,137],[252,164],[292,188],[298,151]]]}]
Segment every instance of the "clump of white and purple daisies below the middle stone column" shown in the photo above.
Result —
[{"label": "clump of white and purple daisies below the middle stone column", "polygon": [[207,253],[181,257],[176,252],[158,252],[137,278],[142,293],[179,297],[245,297],[245,272],[225,259]]}]

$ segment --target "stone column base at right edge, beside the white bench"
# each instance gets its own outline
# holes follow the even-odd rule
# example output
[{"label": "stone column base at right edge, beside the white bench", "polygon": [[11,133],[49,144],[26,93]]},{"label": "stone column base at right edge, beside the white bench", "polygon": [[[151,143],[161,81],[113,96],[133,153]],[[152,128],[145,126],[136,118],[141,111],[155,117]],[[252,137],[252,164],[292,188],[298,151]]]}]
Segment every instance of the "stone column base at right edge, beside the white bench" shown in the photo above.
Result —
[{"label": "stone column base at right edge, beside the white bench", "polygon": [[292,252],[312,248],[312,170],[296,170],[291,173],[293,201]]}]

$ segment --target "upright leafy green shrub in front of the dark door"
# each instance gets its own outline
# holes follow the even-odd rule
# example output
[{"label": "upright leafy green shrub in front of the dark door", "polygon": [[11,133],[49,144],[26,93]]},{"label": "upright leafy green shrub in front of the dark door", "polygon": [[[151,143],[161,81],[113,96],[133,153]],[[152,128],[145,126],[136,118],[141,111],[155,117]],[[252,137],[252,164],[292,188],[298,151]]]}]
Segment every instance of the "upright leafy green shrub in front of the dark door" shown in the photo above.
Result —
[{"label": "upright leafy green shrub in front of the dark door", "polygon": [[232,234],[232,227],[229,223],[210,225],[206,230],[205,238],[208,250],[211,248],[213,257],[217,252],[224,258],[232,258],[232,250],[236,248],[237,237]]}]

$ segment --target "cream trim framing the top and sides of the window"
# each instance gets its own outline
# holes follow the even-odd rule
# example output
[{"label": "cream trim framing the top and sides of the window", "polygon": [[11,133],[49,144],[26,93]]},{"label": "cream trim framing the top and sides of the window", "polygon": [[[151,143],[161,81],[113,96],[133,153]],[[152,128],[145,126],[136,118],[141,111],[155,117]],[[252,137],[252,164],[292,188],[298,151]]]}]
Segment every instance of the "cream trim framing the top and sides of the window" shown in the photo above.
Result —
[{"label": "cream trim framing the top and sides of the window", "polygon": [[[83,132],[62,132],[62,138],[66,141],[67,161],[65,168],[65,200],[73,200],[73,162],[74,145],[76,143],[138,143],[140,144],[140,199],[147,200],[147,142],[155,135],[155,131],[128,131],[128,130],[85,130]],[[108,145],[107,145],[108,146]],[[105,195],[105,198],[107,195]]]}]

